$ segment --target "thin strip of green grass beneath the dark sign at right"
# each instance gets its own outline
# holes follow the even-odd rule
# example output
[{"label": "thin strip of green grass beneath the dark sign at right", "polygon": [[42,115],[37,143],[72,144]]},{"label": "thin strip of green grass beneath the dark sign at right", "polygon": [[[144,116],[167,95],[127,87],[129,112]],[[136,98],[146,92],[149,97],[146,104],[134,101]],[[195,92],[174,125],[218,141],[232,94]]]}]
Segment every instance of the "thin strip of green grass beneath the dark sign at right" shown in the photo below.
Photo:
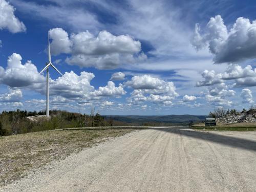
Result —
[{"label": "thin strip of green grass beneath the dark sign at right", "polygon": [[256,131],[256,123],[217,123],[217,126],[204,126],[204,123],[192,125],[195,130],[207,131]]}]

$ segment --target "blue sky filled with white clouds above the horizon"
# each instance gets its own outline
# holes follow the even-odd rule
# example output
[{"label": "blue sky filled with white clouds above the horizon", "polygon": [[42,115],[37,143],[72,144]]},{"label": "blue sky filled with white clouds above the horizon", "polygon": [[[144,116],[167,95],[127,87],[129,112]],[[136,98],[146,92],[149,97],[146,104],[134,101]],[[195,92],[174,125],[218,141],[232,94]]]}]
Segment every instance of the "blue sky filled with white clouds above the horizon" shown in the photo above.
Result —
[{"label": "blue sky filled with white clouds above the horizon", "polygon": [[0,111],[207,115],[256,97],[255,1],[0,0]]}]

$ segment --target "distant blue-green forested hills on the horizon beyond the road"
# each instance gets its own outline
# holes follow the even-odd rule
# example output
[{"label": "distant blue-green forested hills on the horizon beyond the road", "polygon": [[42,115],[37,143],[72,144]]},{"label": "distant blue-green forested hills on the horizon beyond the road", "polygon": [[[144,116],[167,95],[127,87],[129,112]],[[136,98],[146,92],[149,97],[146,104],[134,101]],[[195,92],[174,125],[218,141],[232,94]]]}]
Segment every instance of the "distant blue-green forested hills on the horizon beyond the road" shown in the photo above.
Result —
[{"label": "distant blue-green forested hills on the horizon beyond the road", "polygon": [[[109,119],[110,115],[103,115],[105,119]],[[145,122],[158,122],[158,123],[189,123],[200,122],[205,120],[205,115],[112,115],[113,120],[126,122],[126,123],[145,123]]]}]

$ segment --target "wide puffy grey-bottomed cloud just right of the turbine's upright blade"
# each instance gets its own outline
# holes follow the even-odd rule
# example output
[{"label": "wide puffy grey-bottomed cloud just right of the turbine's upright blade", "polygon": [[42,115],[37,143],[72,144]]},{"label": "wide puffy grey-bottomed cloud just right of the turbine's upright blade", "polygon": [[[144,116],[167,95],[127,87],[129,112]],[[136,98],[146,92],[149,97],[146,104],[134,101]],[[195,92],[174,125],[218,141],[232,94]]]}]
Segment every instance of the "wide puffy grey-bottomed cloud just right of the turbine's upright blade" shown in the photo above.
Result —
[{"label": "wide puffy grey-bottomed cloud just right of the turbine's upright blade", "polygon": [[72,33],[69,37],[65,30],[54,28],[50,30],[50,36],[53,39],[53,54],[72,54],[66,59],[70,65],[114,69],[122,63],[133,63],[146,58],[143,53],[139,54],[140,41],[129,35],[115,36],[108,31],[101,31],[95,37],[89,31],[83,31]]}]

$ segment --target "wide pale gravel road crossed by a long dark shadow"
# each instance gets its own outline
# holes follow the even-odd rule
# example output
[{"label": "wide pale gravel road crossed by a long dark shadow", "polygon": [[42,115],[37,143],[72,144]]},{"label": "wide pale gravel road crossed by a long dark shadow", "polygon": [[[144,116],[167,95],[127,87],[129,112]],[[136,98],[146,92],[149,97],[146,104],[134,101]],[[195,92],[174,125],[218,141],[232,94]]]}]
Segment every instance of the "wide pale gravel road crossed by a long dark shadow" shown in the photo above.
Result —
[{"label": "wide pale gravel road crossed by a long dark shadow", "polygon": [[256,191],[256,132],[135,131],[0,191]]}]

